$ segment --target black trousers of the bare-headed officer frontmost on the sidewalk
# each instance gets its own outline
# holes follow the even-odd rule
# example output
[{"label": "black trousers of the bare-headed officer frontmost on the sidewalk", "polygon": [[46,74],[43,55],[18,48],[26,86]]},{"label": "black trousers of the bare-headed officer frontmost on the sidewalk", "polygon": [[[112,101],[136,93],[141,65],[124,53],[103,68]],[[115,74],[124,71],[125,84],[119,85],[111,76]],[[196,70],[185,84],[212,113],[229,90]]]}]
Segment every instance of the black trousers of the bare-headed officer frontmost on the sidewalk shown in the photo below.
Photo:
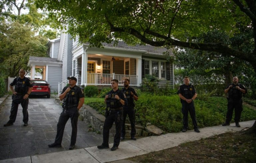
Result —
[{"label": "black trousers of the bare-headed officer frontmost on the sidewalk", "polygon": [[[123,111],[111,111],[110,115],[106,117],[104,126],[103,126],[103,146],[109,146],[109,131],[115,122],[115,136],[114,136],[114,145],[118,147],[120,143],[121,137],[121,129],[122,129],[122,122],[123,122]],[[118,122],[117,117],[120,116],[120,121]]]}]

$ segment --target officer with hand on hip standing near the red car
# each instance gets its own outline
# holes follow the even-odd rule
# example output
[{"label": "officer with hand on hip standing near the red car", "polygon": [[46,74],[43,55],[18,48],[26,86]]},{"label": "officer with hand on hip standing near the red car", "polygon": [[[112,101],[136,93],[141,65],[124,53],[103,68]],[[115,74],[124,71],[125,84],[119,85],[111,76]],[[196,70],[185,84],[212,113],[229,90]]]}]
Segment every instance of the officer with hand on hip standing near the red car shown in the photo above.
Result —
[{"label": "officer with hand on hip standing near the red car", "polygon": [[[19,77],[15,78],[9,86],[11,92],[13,92],[13,95],[11,96],[13,102],[11,103],[10,120],[5,125],[3,125],[5,127],[13,125],[13,123],[15,122],[19,104],[21,104],[22,106],[24,122],[23,126],[27,126],[27,122],[29,121],[29,113],[27,112],[27,106],[29,105],[29,94],[31,93],[33,86],[30,79],[25,77],[25,74],[25,70],[20,69]],[[14,85],[15,89],[13,89]]]}]

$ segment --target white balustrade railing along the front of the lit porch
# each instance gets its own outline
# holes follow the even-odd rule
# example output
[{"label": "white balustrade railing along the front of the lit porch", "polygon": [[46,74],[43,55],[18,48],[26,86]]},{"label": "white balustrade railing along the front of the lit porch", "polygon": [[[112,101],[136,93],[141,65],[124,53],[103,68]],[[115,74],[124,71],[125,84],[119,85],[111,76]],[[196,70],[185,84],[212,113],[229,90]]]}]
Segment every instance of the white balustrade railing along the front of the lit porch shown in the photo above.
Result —
[{"label": "white balustrade railing along the front of the lit porch", "polygon": [[123,79],[129,79],[131,86],[138,85],[138,76],[137,75],[119,75],[119,74],[96,74],[88,73],[87,74],[87,85],[111,85],[111,80],[117,79],[119,85],[122,85]]}]

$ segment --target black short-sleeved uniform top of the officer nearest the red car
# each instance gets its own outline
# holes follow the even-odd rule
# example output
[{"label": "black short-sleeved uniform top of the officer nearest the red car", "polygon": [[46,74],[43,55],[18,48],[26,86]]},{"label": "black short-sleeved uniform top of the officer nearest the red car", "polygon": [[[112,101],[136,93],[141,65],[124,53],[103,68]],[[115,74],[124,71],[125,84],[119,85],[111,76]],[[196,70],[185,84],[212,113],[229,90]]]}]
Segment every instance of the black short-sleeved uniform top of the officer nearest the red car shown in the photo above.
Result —
[{"label": "black short-sleeved uniform top of the officer nearest the red car", "polygon": [[13,82],[11,82],[10,86],[14,86],[14,85],[15,85],[14,91],[22,94],[26,94],[27,89],[29,87],[30,88],[33,87],[32,82],[27,77],[24,77],[23,79],[21,79],[21,77],[15,78]]}]

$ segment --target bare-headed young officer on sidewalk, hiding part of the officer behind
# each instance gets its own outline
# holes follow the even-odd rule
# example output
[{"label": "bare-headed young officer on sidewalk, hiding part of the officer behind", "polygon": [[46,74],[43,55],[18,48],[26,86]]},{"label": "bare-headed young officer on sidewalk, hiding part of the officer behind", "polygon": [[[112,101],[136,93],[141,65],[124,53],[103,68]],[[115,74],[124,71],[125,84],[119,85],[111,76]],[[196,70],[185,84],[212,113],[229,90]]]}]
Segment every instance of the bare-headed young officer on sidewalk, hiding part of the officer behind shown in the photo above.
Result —
[{"label": "bare-headed young officer on sidewalk, hiding part of the officer behind", "polygon": [[105,96],[107,109],[105,112],[106,119],[103,126],[103,143],[97,147],[99,149],[109,148],[109,130],[115,122],[114,144],[111,148],[111,151],[115,151],[118,149],[121,137],[121,128],[123,122],[122,105],[127,105],[128,103],[125,94],[118,89],[117,79],[111,80],[111,87],[113,89]]}]

